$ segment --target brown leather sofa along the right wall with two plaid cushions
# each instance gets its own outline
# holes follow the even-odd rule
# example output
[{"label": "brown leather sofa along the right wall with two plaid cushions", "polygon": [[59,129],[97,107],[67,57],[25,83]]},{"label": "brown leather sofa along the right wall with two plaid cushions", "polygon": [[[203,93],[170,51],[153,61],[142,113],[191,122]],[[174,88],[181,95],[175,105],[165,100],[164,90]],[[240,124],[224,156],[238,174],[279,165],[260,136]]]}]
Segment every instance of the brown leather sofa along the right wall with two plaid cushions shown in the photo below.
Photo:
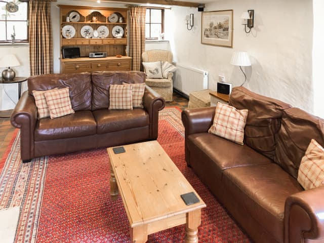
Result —
[{"label": "brown leather sofa along the right wall with two plaid cushions", "polygon": [[207,132],[215,107],[184,110],[188,166],[255,242],[324,242],[324,186],[297,181],[310,140],[324,146],[324,120],[242,87],[229,103],[249,109],[245,144]]}]

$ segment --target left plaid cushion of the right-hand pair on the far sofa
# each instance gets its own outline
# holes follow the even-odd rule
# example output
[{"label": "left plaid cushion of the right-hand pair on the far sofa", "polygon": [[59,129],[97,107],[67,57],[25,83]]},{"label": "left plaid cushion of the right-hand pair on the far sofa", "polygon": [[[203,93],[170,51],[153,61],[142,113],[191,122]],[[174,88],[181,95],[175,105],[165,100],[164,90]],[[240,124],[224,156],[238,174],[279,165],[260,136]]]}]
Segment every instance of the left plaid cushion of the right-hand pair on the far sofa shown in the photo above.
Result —
[{"label": "left plaid cushion of the right-hand pair on the far sofa", "polygon": [[109,103],[110,110],[132,110],[132,86],[110,85]]}]

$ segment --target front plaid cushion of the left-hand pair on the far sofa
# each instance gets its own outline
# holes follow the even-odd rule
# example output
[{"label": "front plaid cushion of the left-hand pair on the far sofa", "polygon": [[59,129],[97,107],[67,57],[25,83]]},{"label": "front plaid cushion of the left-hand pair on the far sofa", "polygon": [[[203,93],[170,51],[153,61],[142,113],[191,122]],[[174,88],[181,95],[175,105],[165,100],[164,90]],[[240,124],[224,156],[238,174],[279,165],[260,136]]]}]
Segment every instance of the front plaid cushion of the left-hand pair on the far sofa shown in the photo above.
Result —
[{"label": "front plaid cushion of the left-hand pair on the far sofa", "polygon": [[74,113],[68,87],[59,90],[52,90],[46,92],[44,95],[50,109],[51,119]]}]

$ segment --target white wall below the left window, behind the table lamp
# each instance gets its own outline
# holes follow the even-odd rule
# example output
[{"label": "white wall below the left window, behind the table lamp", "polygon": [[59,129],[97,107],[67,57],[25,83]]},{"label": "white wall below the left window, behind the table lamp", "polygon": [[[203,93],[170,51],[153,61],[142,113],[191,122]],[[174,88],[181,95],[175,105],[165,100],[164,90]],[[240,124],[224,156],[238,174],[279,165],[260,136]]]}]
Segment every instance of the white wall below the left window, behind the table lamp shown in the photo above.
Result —
[{"label": "white wall below the left window, behind the table lamp", "polygon": [[[20,66],[13,67],[17,77],[29,77],[29,45],[0,46],[0,57],[15,54]],[[0,68],[0,73],[6,68]],[[27,90],[27,82],[22,85],[22,93]],[[7,93],[7,94],[6,94]],[[9,97],[12,99],[10,99]],[[0,85],[0,110],[13,109],[18,101],[18,84]]]}]

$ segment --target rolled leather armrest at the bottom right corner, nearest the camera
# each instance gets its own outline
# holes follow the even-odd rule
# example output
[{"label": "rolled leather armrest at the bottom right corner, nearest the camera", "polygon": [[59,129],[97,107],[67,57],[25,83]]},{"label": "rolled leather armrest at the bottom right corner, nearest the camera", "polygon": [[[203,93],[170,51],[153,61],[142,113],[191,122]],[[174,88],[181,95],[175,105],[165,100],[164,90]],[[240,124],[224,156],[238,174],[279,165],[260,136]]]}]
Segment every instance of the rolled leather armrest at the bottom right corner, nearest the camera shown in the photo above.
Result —
[{"label": "rolled leather armrest at the bottom right corner, nearest the camera", "polygon": [[307,239],[324,241],[323,186],[295,193],[286,199],[285,242],[306,242]]}]

